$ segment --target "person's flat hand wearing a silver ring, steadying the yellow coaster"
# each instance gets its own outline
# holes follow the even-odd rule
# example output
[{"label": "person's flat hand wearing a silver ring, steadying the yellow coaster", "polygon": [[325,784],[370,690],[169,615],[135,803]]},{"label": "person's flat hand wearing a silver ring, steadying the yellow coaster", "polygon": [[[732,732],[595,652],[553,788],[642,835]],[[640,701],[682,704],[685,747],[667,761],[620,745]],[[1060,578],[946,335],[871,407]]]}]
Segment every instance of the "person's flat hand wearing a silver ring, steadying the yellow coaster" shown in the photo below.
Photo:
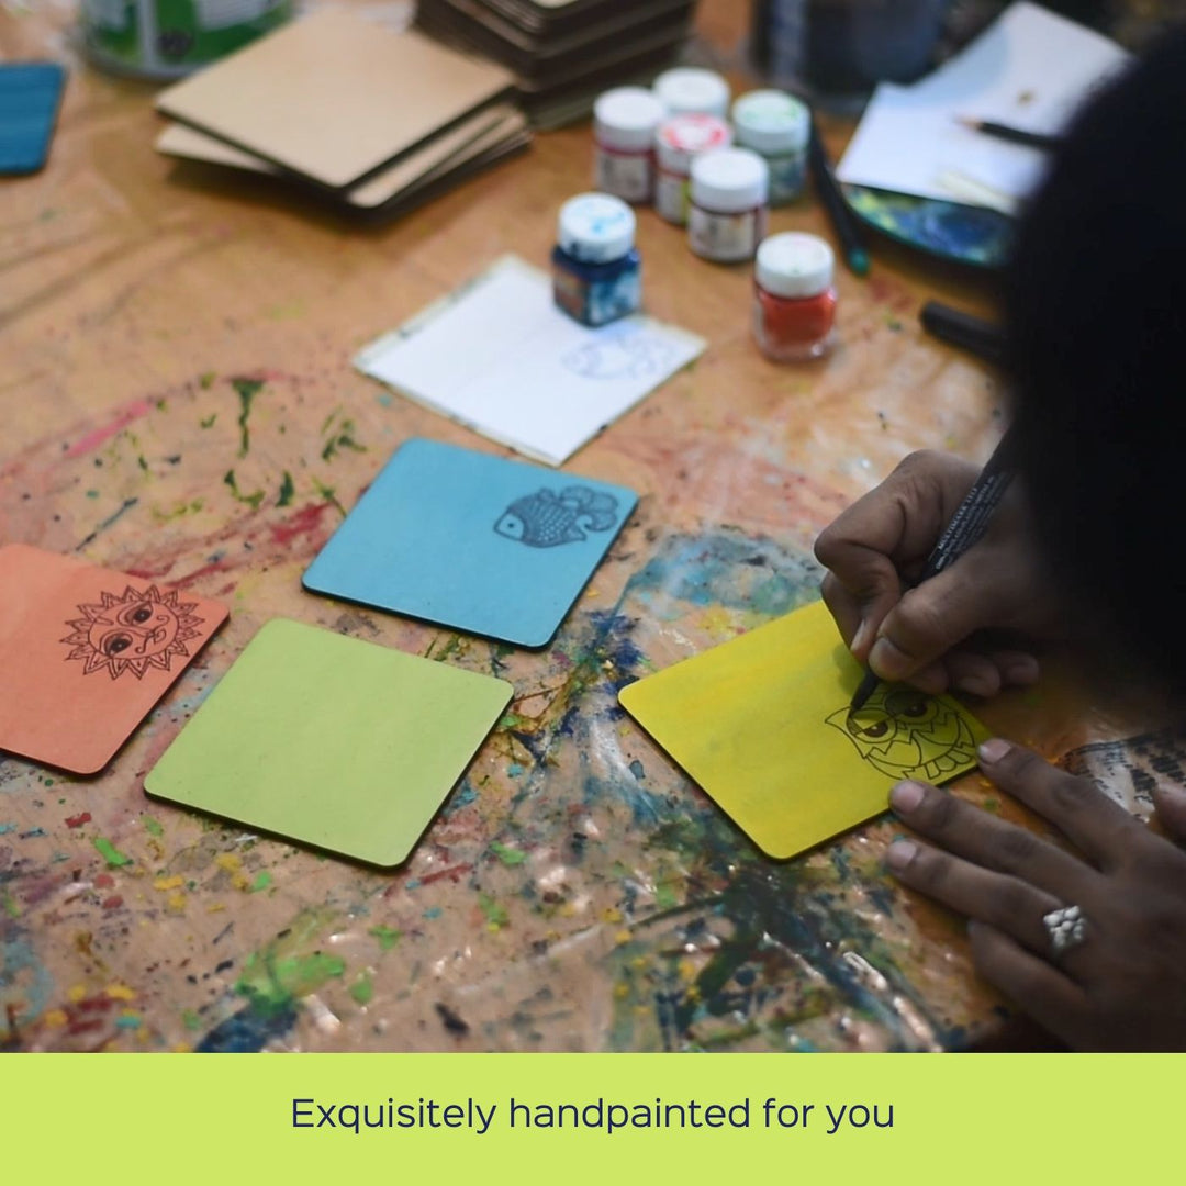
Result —
[{"label": "person's flat hand wearing a silver ring, steadying the yellow coaster", "polygon": [[[891,803],[930,844],[898,840],[903,882],[971,919],[976,970],[1079,1050],[1186,1050],[1186,795],[1161,792],[1166,836],[1095,783],[1008,741],[981,769],[1044,816],[1072,854],[951,795],[900,783]],[[1044,916],[1078,906],[1083,939],[1054,951]]]}]

